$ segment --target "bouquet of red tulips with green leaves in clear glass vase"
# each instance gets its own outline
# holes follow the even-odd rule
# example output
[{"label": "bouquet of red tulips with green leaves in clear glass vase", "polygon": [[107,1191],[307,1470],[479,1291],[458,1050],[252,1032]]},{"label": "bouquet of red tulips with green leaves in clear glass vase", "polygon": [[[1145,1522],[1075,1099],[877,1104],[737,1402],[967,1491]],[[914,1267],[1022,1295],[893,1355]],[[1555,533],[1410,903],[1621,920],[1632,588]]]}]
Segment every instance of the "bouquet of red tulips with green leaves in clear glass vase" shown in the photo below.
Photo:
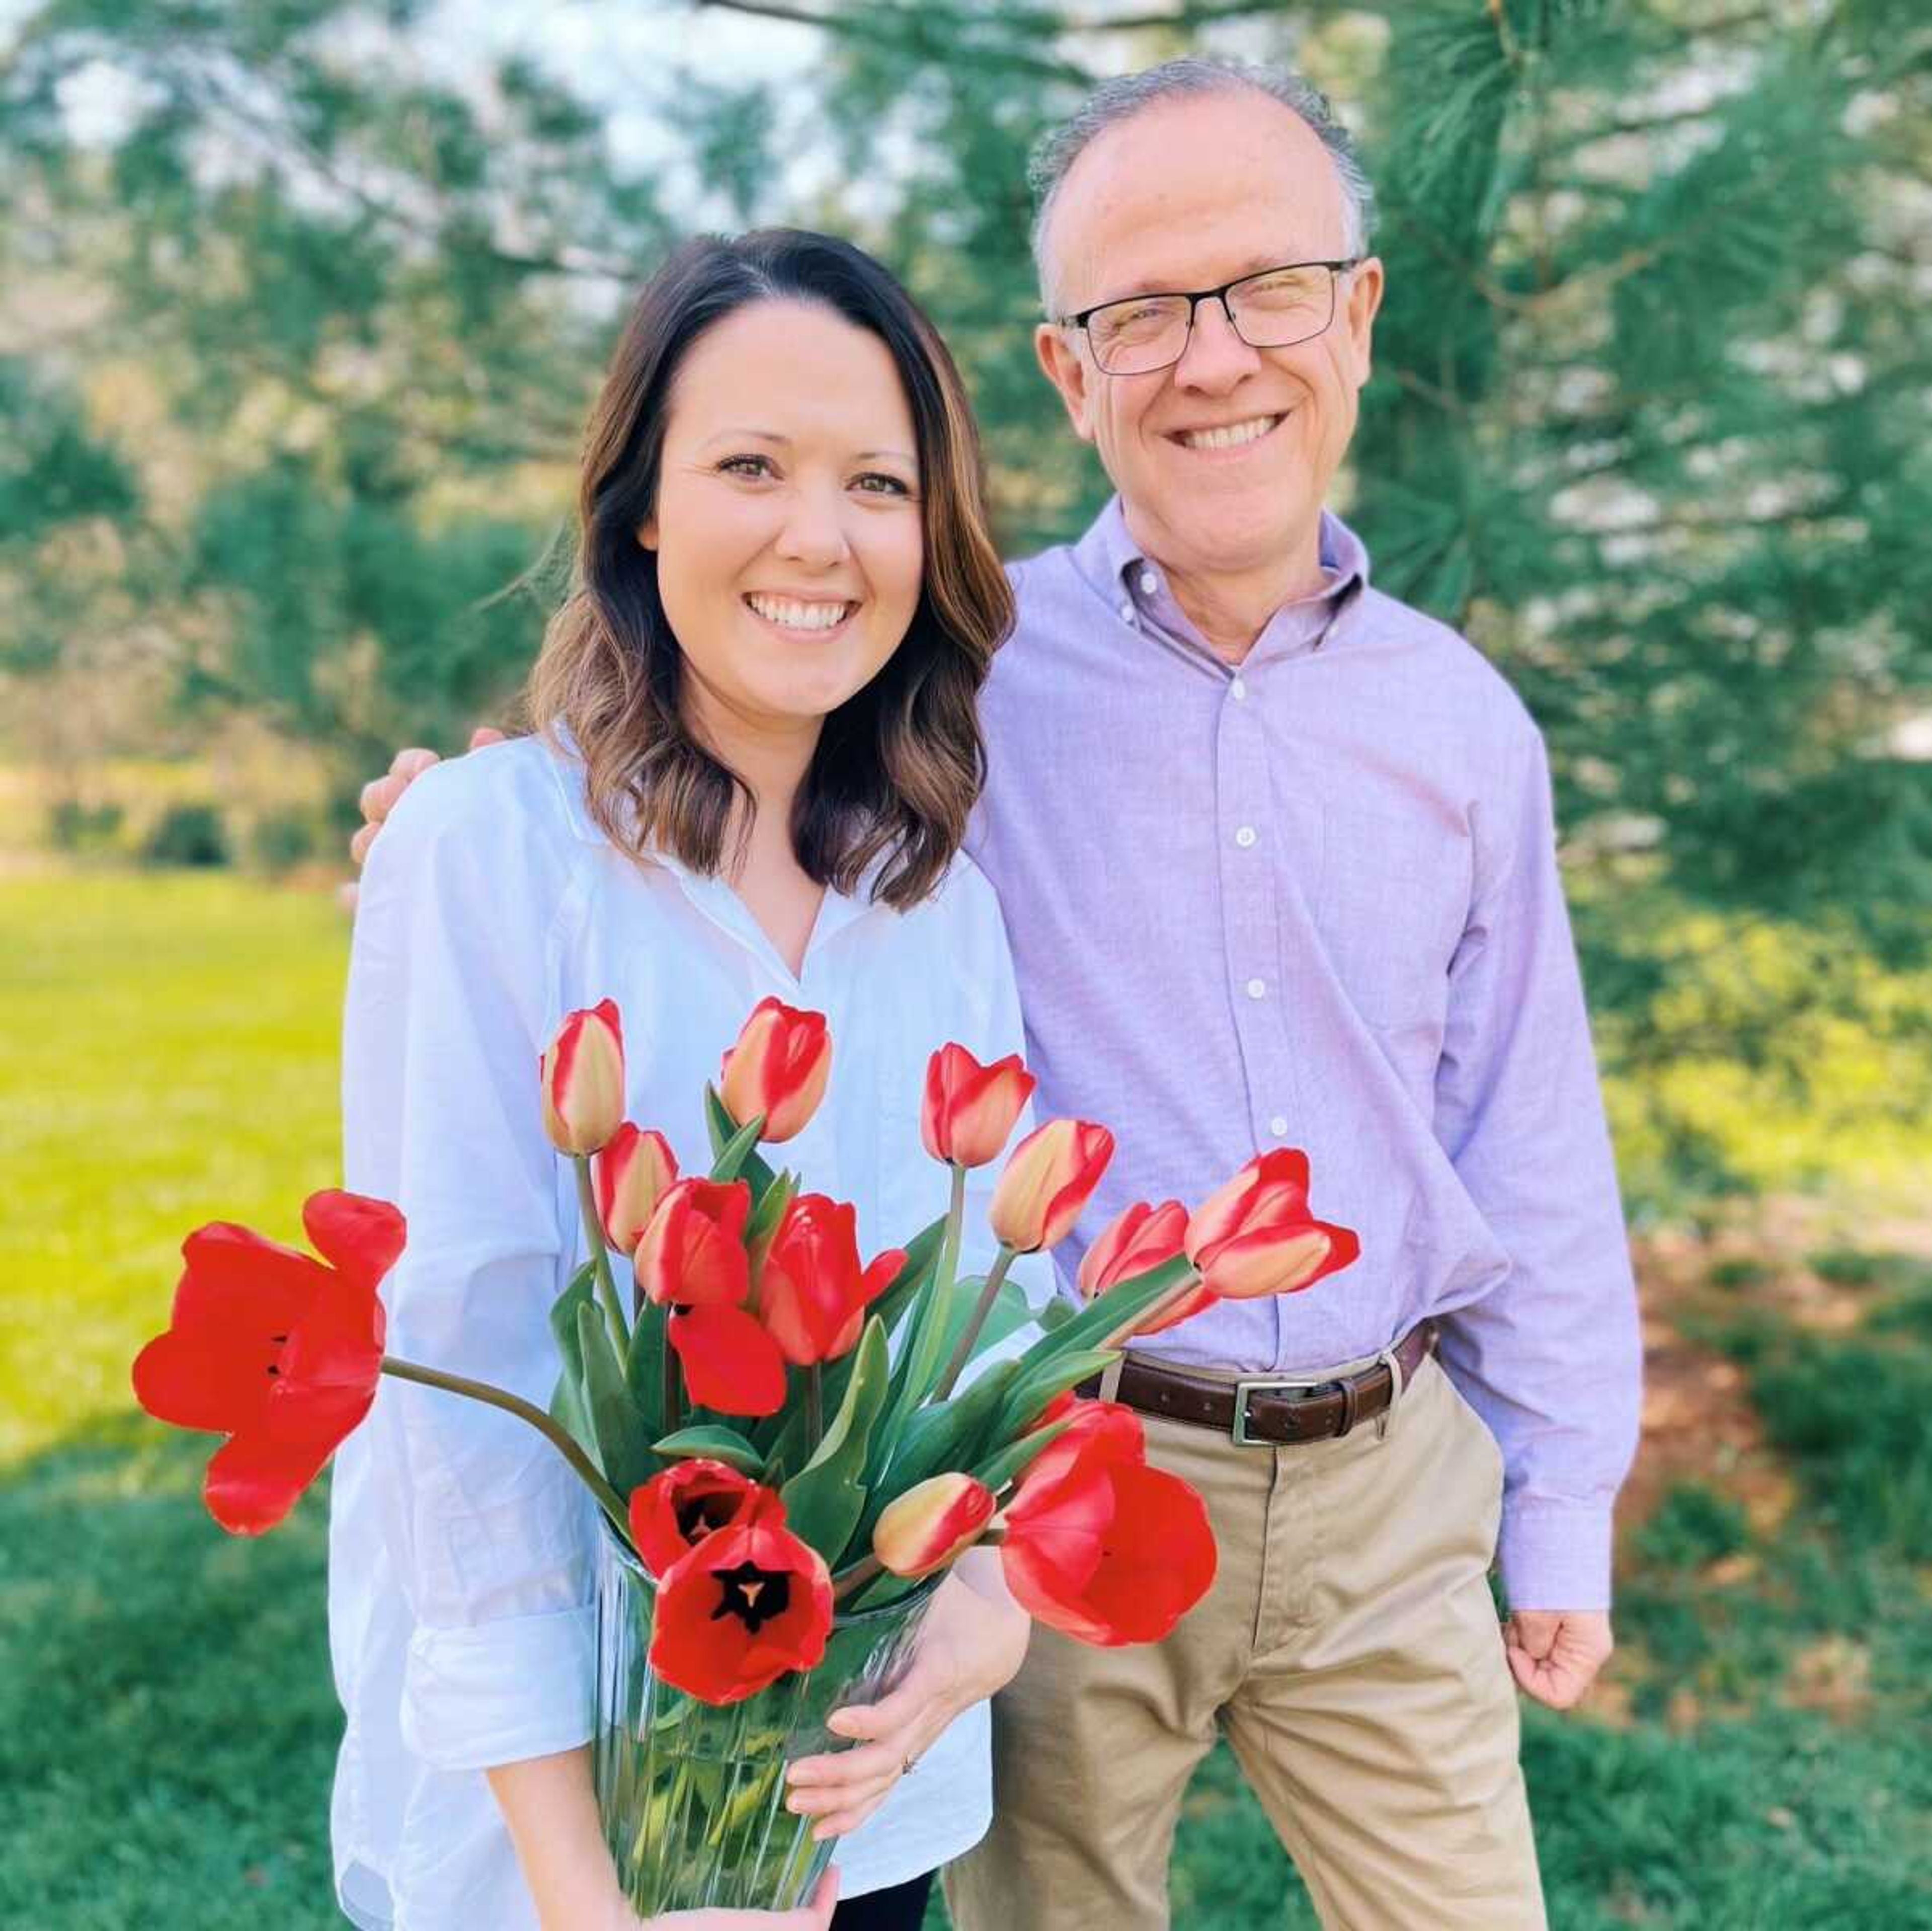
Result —
[{"label": "bouquet of red tulips with green leaves in clear glass vase", "polygon": [[1084,1305],[1049,1305],[1020,1349],[1032,1316],[1007,1272],[1072,1229],[1113,1135],[1070,1119],[1028,1135],[993,1193],[993,1266],[962,1280],[966,1173],[1001,1156],[1034,1079],[1018,1057],[943,1046],[922,1138],[951,1202],[862,1262],[852,1206],[759,1152],[806,1125],[829,1071],[823,1017],[765,999],[705,1092],[713,1164],[682,1175],[661,1133],[624,1119],[616,1005],[564,1021],[541,1104],[576,1164],[589,1258],[553,1309],[549,1411],[384,1355],[379,1287],[404,1220],[346,1193],[305,1206],[321,1258],[238,1225],[191,1233],[172,1324],[133,1365],[149,1413],[228,1436],[205,1494],[243,1535],[290,1512],[381,1374],[554,1442],[607,1519],[597,1786],[641,1912],[810,1890],[831,1846],[782,1809],[782,1767],[837,1747],[825,1716],[883,1693],[974,1544],[999,1548],[1014,1597],[1055,1629],[1165,1635],[1213,1579],[1206,1510],[1146,1463],[1130,1409],[1072,1390],[1134,1334],[1356,1256],[1349,1229],[1310,1216],[1306,1158],[1264,1154],[1192,1214],[1121,1214],[1088,1251]]}]

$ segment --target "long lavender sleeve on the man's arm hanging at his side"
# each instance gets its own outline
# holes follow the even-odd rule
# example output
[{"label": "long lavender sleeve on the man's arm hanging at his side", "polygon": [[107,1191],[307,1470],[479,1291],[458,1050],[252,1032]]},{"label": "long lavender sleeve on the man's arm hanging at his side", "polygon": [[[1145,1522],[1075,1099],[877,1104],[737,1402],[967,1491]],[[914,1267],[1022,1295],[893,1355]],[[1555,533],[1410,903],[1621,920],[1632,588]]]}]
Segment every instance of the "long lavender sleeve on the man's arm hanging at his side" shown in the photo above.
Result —
[{"label": "long lavender sleeve on the man's arm hanging at his side", "polygon": [[1503,1450],[1515,1608],[1609,1602],[1611,1504],[1636,1446],[1642,1347],[1629,1241],[1555,856],[1549,767],[1524,721],[1478,827],[1451,968],[1435,1131],[1509,1256],[1443,1322],[1443,1363]]}]

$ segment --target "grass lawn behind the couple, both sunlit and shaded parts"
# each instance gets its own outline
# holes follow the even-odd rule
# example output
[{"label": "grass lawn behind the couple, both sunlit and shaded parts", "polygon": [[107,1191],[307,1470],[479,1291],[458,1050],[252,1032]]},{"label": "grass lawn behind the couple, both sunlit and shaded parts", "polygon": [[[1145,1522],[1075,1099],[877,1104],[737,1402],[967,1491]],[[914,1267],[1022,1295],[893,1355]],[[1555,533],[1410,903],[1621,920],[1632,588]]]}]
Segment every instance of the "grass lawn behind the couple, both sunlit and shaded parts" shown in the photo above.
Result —
[{"label": "grass lawn behind the couple, both sunlit and shaded parts", "polygon": [[[79,874],[0,878],[0,1925],[336,1923],[321,1496],[220,1535],[211,1444],[135,1415],[128,1361],[189,1225],[292,1239],[336,1177],[344,922],[228,878]],[[1683,1314],[1793,1498],[1758,1523],[1721,1459],[1671,1486],[1615,1693],[1528,1722],[1561,1931],[1932,1931],[1932,1278],[1833,1266],[1830,1330],[1745,1276]],[[1225,1753],[1175,1917],[1314,1923]]]}]

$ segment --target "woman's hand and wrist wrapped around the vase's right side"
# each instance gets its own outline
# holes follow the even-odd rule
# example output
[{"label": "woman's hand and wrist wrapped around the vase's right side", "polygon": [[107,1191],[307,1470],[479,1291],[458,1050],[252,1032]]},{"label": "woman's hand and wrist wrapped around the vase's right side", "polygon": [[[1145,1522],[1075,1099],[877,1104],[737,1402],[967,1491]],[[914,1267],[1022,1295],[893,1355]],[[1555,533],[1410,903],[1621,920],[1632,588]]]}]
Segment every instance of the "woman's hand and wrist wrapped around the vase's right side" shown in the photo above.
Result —
[{"label": "woman's hand and wrist wrapped around the vase's right side", "polygon": [[1026,1658],[1032,1620],[999,1568],[999,1552],[970,1548],[925,1612],[904,1682],[883,1701],[835,1711],[829,1728],[858,1749],[800,1757],[786,1772],[788,1805],[815,1817],[815,1840],[856,1830],[960,1711],[1005,1689]]}]

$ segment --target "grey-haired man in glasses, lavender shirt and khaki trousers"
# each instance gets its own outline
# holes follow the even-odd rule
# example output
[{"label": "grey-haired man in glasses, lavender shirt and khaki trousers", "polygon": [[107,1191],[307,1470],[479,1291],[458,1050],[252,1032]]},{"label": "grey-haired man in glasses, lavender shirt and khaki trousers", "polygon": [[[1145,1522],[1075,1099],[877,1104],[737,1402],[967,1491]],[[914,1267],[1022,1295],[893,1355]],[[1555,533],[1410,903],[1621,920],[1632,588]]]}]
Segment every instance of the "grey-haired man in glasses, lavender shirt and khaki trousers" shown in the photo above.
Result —
[{"label": "grey-haired man in glasses, lavender shirt and khaki trousers", "polygon": [[1208,1496],[1221,1570],[1161,1645],[1036,1633],[952,1916],[1165,1925],[1223,1732],[1323,1923],[1540,1925],[1511,1676],[1567,1707],[1609,1655],[1638,1392],[1542,740],[1323,510],[1383,290],[1327,104],[1171,62],[1103,85],[1036,187],[1039,363],[1119,495],[1014,570],[974,854],[1041,1117],[1119,1131],[1076,1245],[1293,1144],[1362,1258],[1101,1388]]}]

